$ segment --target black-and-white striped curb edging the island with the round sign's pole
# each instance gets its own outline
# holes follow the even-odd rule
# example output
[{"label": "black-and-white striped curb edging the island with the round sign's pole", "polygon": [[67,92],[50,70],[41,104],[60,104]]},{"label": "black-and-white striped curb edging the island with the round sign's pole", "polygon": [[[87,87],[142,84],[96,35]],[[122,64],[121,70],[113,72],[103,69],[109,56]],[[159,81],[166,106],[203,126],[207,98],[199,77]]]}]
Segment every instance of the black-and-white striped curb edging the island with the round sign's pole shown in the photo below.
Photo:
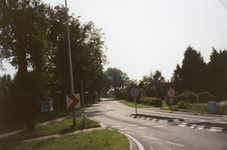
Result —
[{"label": "black-and-white striped curb edging the island with the round sign's pole", "polygon": [[149,120],[149,121],[154,121],[154,122],[159,122],[159,123],[189,121],[189,119],[163,119],[163,120],[161,120],[161,119],[153,119],[153,118],[150,118],[150,117],[141,117],[141,116],[135,117],[135,115],[127,115],[127,117],[131,117],[131,118],[135,118],[135,119]]}]

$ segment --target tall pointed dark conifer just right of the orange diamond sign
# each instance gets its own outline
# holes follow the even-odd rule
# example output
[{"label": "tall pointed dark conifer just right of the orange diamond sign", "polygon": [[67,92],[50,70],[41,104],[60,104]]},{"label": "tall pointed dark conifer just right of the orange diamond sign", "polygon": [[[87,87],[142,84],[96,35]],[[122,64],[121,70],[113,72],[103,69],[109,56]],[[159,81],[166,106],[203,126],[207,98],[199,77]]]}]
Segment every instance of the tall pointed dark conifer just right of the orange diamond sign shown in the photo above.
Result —
[{"label": "tall pointed dark conifer just right of the orange diamond sign", "polygon": [[183,87],[189,91],[199,93],[204,91],[206,63],[200,52],[188,46],[182,62],[181,78]]}]

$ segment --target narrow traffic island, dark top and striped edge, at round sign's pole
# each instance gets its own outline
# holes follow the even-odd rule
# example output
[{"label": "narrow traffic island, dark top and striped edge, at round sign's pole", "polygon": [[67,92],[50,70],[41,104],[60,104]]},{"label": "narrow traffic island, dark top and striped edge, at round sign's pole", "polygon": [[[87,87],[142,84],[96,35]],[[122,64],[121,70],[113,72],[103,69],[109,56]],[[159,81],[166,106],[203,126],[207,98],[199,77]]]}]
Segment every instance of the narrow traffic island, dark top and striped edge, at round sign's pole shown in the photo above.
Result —
[{"label": "narrow traffic island, dark top and striped edge, at round sign's pole", "polygon": [[153,116],[153,115],[146,115],[146,114],[137,114],[137,115],[136,114],[130,114],[127,117],[131,117],[131,118],[135,118],[135,119],[150,120],[150,121],[155,121],[155,122],[182,122],[182,121],[189,121],[189,119]]}]

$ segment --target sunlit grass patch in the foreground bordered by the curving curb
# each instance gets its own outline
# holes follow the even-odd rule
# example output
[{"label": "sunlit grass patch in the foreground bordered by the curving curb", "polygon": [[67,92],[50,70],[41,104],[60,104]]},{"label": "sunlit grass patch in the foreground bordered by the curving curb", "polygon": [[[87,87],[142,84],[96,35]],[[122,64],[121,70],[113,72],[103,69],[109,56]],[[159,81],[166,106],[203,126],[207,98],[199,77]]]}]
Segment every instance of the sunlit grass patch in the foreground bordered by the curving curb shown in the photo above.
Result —
[{"label": "sunlit grass patch in the foreground bordered by the curving curb", "polygon": [[103,129],[66,135],[60,138],[9,145],[8,147],[15,150],[128,150],[129,141],[125,135],[116,130]]}]

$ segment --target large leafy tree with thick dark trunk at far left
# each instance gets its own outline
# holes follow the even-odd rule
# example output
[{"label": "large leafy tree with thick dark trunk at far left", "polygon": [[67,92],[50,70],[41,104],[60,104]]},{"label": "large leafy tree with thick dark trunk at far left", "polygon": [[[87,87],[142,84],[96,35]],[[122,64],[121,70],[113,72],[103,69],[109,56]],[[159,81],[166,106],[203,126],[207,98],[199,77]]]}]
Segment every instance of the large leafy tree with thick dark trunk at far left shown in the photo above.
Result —
[{"label": "large leafy tree with thick dark trunk at far left", "polygon": [[28,131],[35,129],[33,90],[46,84],[42,81],[49,44],[45,8],[39,0],[4,0],[0,4],[0,60],[7,59],[18,68],[14,86]]}]

